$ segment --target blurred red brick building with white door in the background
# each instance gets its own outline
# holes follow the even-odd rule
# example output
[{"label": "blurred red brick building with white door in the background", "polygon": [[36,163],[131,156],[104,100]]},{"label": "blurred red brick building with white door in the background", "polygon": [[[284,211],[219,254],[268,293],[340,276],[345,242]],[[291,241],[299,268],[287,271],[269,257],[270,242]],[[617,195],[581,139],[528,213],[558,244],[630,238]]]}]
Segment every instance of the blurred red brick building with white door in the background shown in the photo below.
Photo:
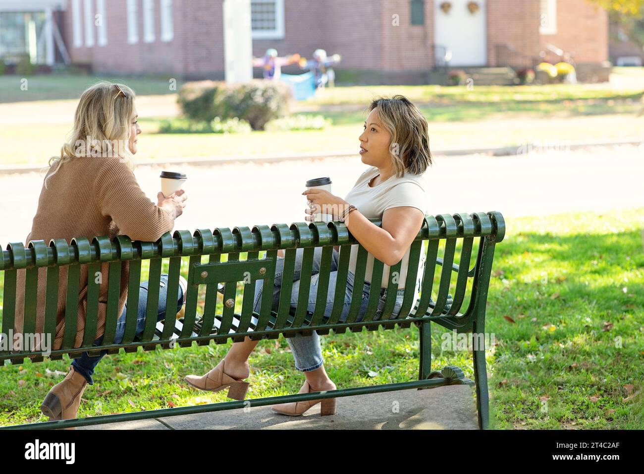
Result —
[{"label": "blurred red brick building with white door in the background", "polygon": [[[64,3],[59,29],[72,63],[223,78],[223,0]],[[339,80],[423,83],[444,64],[516,68],[570,58],[593,68],[608,59],[608,17],[589,0],[251,0],[251,13],[254,55],[276,48],[311,57],[324,48],[343,57]]]}]

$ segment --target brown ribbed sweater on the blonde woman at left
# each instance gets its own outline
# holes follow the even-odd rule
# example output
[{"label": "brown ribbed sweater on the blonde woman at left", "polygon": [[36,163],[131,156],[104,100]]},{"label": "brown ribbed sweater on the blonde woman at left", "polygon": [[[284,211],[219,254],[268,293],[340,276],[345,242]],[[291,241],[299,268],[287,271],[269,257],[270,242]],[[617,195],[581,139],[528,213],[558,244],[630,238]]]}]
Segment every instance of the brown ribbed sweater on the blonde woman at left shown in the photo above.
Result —
[{"label": "brown ribbed sweater on the blonde woman at left", "polygon": [[[54,164],[46,173],[52,174],[58,167]],[[47,188],[41,190],[38,210],[33,217],[32,231],[27,235],[25,246],[30,240],[65,239],[109,235],[128,235],[133,241],[156,241],[166,232],[171,232],[174,221],[169,212],[159,208],[138,186],[134,173],[120,158],[74,158],[63,163],[47,181]],[[108,294],[108,264],[101,265],[102,283],[99,290],[99,315],[96,338],[105,329],[106,301]],[[64,314],[67,291],[68,267],[59,267],[58,311],[56,335],[52,350],[61,348],[64,334]],[[120,296],[118,315],[128,297],[129,263],[121,264]],[[44,330],[44,304],[46,268],[38,272],[38,301],[36,332]],[[16,308],[14,331],[22,332],[24,322],[24,278],[25,271],[17,272]],[[81,346],[85,330],[87,307],[88,268],[81,265],[81,293],[79,295],[77,333],[74,347]],[[111,341],[109,341],[111,342]]]}]

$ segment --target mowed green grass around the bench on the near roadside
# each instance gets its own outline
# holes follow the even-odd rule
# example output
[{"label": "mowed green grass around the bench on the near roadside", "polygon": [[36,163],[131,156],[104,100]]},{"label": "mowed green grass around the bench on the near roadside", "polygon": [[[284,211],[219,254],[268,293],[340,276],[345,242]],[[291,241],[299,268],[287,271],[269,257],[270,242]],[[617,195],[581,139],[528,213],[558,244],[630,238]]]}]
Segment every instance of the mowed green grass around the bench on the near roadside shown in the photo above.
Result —
[{"label": "mowed green grass around the bench on the near roadside", "polygon": [[[639,208],[507,222],[486,319],[495,340],[487,353],[492,428],[644,428],[643,217]],[[433,370],[453,364],[473,378],[470,352],[443,350],[448,336],[433,326]],[[321,341],[339,388],[418,376],[414,328]],[[213,368],[230,344],[107,356],[79,416],[228,400],[225,392],[193,391],[182,379]],[[39,404],[68,363],[0,368],[0,424],[45,420]],[[283,337],[261,341],[250,363],[251,399],[296,393],[303,382]]]}]

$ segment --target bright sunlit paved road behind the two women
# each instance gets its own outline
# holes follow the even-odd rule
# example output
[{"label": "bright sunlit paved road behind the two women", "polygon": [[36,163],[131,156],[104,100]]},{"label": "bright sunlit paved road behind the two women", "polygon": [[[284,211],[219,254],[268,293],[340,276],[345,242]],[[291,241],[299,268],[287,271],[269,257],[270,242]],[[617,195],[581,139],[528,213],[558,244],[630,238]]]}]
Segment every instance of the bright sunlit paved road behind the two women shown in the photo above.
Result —
[{"label": "bright sunlit paved road behind the two women", "polygon": [[[359,157],[221,166],[164,166],[187,173],[189,204],[175,229],[252,226],[303,221],[307,179],[330,176],[345,195],[365,170]],[[151,199],[161,167],[140,166],[137,178]],[[428,171],[430,214],[498,210],[506,217],[644,206],[644,147],[589,147],[526,155],[435,157]],[[24,239],[43,178],[39,173],[0,175],[0,242]]]}]

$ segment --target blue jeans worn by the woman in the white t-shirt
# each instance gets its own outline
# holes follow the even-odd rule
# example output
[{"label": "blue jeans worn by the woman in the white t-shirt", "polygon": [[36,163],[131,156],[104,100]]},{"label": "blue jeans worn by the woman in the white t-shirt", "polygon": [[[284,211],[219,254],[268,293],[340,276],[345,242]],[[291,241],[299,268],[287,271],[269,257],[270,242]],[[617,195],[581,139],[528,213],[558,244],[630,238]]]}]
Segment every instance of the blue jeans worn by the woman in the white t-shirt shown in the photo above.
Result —
[{"label": "blue jeans worn by the woman in the white t-shirt", "polygon": [[[302,270],[302,258],[303,258],[304,249],[298,248],[296,251],[295,259],[295,270],[293,273],[293,288],[290,293],[290,304],[292,308],[296,308],[298,302],[298,293],[299,293],[299,278]],[[313,257],[313,268],[311,272],[311,286],[308,293],[308,306],[307,311],[313,313],[316,308],[316,299],[317,299],[317,281],[319,280],[319,271],[320,271],[320,261],[322,257],[322,248],[317,247],[314,251]],[[331,315],[332,308],[334,306],[334,295],[336,294],[336,281],[337,281],[337,268],[338,268],[338,259],[339,252],[334,249],[333,258],[331,262],[331,272],[329,273],[329,282],[328,282],[328,292],[327,292],[327,306],[324,312],[324,318],[328,319]],[[273,302],[272,310],[277,311],[279,308],[279,293],[281,291],[282,276],[284,273],[284,259],[278,257],[276,261],[275,268],[275,281],[273,288]],[[308,275],[307,275],[308,277]],[[254,300],[254,311],[259,311],[261,306],[261,292],[263,288],[263,280],[258,280],[255,286],[255,300]],[[348,272],[346,275],[346,290],[345,290],[345,301],[340,313],[339,321],[345,322],[346,316],[349,313],[349,308],[351,305],[351,296],[354,289],[354,274]],[[365,282],[363,287],[362,302],[360,304],[360,310],[355,319],[356,322],[362,321],[365,317],[366,308],[369,301],[369,293],[371,290],[371,284]],[[374,320],[381,319],[384,309],[384,301],[387,297],[386,289],[379,288],[380,298],[378,300],[377,311],[374,315]],[[403,305],[403,295],[404,290],[397,290],[395,305],[393,307],[393,315],[398,315]],[[290,350],[292,351],[293,358],[295,359],[296,369],[307,372],[310,370],[316,370],[321,367],[324,363],[322,357],[322,348],[320,346],[319,335],[316,331],[313,331],[310,336],[302,335],[297,333],[295,337],[287,337],[289,342]]]}]

